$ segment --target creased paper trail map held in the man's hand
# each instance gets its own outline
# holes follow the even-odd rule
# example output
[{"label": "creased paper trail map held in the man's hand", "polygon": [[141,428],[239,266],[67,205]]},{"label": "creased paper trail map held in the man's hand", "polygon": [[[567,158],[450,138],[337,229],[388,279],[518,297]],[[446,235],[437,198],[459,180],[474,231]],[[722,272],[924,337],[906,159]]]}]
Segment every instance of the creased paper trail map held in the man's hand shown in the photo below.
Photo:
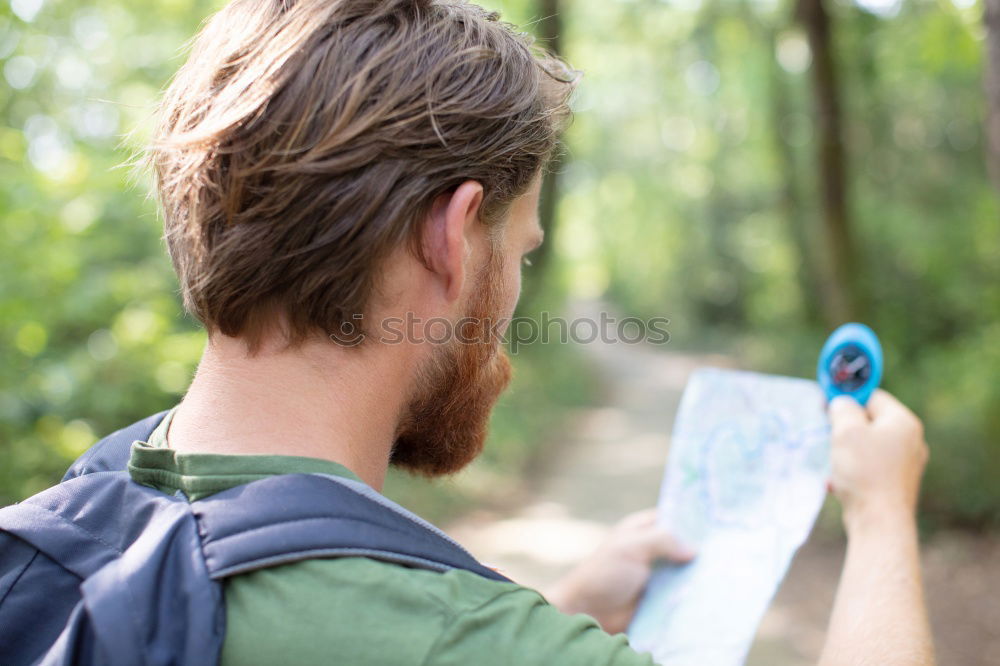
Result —
[{"label": "creased paper trail map held in the man's hand", "polygon": [[632,647],[674,666],[743,663],[826,496],[829,423],[814,381],[704,368],[674,423],[659,520],[698,556],[654,572]]}]

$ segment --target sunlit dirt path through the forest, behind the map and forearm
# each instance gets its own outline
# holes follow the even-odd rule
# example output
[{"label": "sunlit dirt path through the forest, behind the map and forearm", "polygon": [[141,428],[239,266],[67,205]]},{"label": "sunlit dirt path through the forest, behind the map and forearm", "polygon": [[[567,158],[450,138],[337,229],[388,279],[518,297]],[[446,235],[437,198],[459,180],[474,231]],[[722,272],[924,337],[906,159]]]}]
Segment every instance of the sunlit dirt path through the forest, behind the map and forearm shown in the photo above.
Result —
[{"label": "sunlit dirt path through the forest, behind the map and forearm", "polygon": [[[478,512],[447,531],[511,578],[543,589],[589,553],[626,513],[659,492],[681,392],[692,370],[732,366],[626,344],[583,347],[607,383],[606,404],[569,416],[563,441],[534,470],[526,500],[502,514]],[[761,624],[747,664],[815,663],[844,551],[839,529],[802,548]],[[1000,664],[1000,539],[937,535],[924,548],[939,663]]]}]

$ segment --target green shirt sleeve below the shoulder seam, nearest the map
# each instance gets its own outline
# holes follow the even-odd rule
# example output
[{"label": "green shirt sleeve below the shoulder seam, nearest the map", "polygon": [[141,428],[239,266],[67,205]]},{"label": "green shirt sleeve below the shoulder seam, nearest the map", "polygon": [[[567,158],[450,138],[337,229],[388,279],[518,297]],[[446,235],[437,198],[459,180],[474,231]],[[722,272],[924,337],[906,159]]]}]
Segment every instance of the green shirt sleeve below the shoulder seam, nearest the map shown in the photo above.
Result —
[{"label": "green shirt sleeve below the shoulder seam, nearest the map", "polygon": [[652,666],[624,634],[607,634],[587,615],[565,615],[538,593],[518,588],[456,613],[424,666],[601,664]]}]

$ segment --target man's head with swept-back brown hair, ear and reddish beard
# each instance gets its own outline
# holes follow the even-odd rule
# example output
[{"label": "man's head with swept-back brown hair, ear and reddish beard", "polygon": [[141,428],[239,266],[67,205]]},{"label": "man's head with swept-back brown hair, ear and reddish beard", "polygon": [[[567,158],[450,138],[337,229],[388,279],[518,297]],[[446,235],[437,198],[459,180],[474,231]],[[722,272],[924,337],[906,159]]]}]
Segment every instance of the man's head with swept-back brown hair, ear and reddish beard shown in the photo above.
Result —
[{"label": "man's head with swept-back brown hair, ear and reddish beard", "polygon": [[[464,2],[235,0],[167,91],[151,153],[185,307],[251,354],[359,325],[360,350],[403,311],[492,326],[540,241],[571,87]],[[398,464],[442,473],[478,452],[509,364],[476,339],[405,341]]]}]

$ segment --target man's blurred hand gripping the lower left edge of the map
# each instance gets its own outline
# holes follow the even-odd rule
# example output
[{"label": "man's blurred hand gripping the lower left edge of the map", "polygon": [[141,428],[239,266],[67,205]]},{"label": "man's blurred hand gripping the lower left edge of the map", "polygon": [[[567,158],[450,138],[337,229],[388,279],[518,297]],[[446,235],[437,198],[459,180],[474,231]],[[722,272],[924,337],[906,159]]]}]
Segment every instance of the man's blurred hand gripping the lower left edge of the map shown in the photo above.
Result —
[{"label": "man's blurred hand gripping the lower left edge of the map", "polygon": [[694,553],[656,524],[656,510],[626,516],[608,539],[545,597],[564,613],[586,613],[609,634],[628,628],[658,560],[687,562]]}]

